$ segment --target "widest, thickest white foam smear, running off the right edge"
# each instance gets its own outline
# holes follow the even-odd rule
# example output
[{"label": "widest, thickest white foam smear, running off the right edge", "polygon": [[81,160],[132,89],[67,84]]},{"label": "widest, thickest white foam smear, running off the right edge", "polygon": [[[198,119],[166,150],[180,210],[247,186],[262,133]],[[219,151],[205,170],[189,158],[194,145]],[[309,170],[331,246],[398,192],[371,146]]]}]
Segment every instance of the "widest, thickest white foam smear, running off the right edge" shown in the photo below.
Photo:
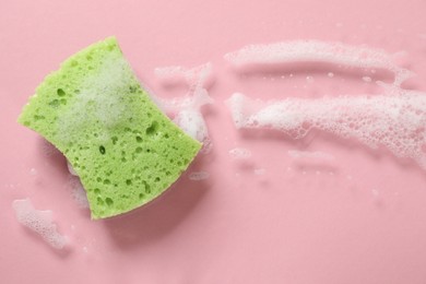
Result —
[{"label": "widest, thickest white foam smear, running off the right edge", "polygon": [[276,129],[294,139],[319,129],[356,139],[371,149],[384,146],[426,169],[425,93],[392,88],[392,94],[375,96],[289,97],[275,102],[236,93],[226,104],[239,129]]}]

